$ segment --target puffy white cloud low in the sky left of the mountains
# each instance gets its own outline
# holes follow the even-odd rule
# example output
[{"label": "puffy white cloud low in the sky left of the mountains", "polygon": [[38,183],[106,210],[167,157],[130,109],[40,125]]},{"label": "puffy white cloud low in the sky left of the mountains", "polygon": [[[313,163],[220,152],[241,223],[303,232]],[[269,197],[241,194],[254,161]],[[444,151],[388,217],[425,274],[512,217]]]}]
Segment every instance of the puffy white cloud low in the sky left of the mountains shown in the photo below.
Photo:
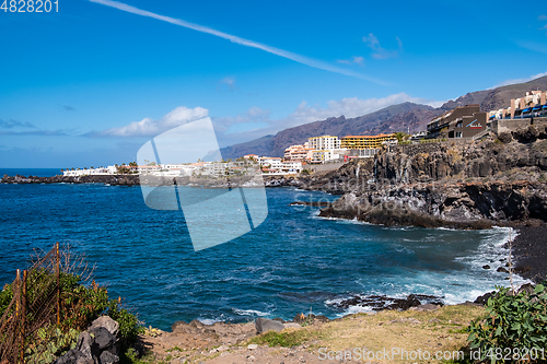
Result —
[{"label": "puffy white cloud low in the sky left of the mountains", "polygon": [[92,131],[86,137],[155,137],[164,131],[179,127],[184,124],[199,120],[209,115],[209,110],[202,107],[188,108],[181,106],[162,117],[154,120],[144,118],[140,121],[132,121],[125,127],[110,128],[103,131]]}]

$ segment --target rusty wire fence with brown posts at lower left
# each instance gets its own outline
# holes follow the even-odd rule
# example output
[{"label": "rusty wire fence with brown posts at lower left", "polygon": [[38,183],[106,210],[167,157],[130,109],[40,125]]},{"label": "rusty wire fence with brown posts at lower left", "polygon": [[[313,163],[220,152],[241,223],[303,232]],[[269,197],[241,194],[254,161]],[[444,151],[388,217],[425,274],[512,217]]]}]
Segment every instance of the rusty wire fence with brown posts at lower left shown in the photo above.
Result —
[{"label": "rusty wire fence with brown posts at lower left", "polygon": [[62,258],[57,243],[47,254],[37,254],[32,267],[18,270],[13,283],[4,286],[12,298],[0,318],[0,364],[43,362],[44,343],[60,324],[59,277],[61,270],[70,270]]}]

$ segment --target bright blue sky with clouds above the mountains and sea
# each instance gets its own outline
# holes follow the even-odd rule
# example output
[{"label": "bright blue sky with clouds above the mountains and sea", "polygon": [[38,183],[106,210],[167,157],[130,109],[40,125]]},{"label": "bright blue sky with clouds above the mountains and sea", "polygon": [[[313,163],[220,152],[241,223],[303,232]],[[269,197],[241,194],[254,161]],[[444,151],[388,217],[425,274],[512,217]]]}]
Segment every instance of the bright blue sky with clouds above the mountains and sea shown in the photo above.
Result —
[{"label": "bright blue sky with clouds above the mountains and sea", "polygon": [[0,167],[130,162],[205,116],[224,146],[547,74],[547,10],[510,1],[59,0],[1,10],[0,32]]}]

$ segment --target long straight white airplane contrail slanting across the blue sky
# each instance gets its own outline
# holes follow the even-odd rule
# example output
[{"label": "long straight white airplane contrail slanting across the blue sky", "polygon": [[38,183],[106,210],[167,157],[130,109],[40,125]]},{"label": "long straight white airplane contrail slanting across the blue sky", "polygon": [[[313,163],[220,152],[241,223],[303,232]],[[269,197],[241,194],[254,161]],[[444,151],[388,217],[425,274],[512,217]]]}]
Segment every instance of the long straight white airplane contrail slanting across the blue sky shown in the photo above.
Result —
[{"label": "long straight white airplane contrail slanting across the blue sky", "polygon": [[245,47],[258,48],[258,49],[261,49],[261,50],[267,51],[269,54],[272,54],[272,55],[276,55],[279,57],[283,57],[283,58],[287,58],[287,59],[293,60],[295,62],[306,64],[306,66],[310,66],[310,67],[313,67],[316,69],[321,69],[321,70],[325,70],[325,71],[329,71],[329,72],[335,72],[335,73],[340,73],[340,74],[353,77],[353,78],[361,79],[361,80],[366,80],[366,81],[374,82],[374,83],[377,83],[381,85],[388,85],[387,82],[384,82],[382,80],[377,80],[377,79],[368,77],[368,75],[362,74],[362,73],[358,73],[358,72],[353,72],[351,70],[339,68],[339,67],[329,64],[329,63],[324,62],[324,61],[319,61],[316,59],[304,57],[304,56],[294,54],[292,51],[288,51],[288,50],[279,49],[279,48],[271,47],[271,46],[268,46],[265,44],[260,44],[258,42],[241,38],[241,37],[235,36],[235,35],[220,32],[220,31],[213,30],[213,28],[208,27],[208,26],[194,24],[194,23],[181,20],[181,19],[175,19],[175,17],[171,17],[171,16],[155,14],[155,13],[152,13],[150,11],[138,9],[138,8],[125,4],[123,2],[119,2],[119,1],[113,1],[113,0],[90,0],[90,1],[103,4],[106,7],[115,8],[115,9],[121,10],[121,11],[126,11],[129,13],[133,13],[137,15],[153,17],[153,19],[160,20],[162,22],[167,22],[171,24],[184,26],[184,27],[197,31],[197,32],[211,34],[211,35],[214,35],[217,37],[221,37],[221,38],[228,39],[230,42],[233,42],[235,44],[238,44],[238,45],[242,45]]}]

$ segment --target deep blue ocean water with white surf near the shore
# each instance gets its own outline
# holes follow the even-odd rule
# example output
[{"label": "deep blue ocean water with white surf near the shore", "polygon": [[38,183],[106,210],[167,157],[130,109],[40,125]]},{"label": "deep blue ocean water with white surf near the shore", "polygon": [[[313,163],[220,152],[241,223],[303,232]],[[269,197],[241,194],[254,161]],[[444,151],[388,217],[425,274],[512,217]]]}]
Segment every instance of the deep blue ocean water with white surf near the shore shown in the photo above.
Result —
[{"label": "deep blue ocean water with white surf near the shore", "polygon": [[[292,319],[310,309],[334,318],[369,309],[330,305],[350,295],[432,294],[454,304],[508,285],[496,272],[508,257],[507,228],[388,228],[289,206],[336,196],[271,188],[267,197],[268,218],[253,232],[194,251],[184,214],[149,209],[138,187],[0,184],[0,284],[27,267],[34,248],[68,244],[95,265],[112,297],[161,329],[195,318]],[[492,269],[482,269],[487,263]]]}]

